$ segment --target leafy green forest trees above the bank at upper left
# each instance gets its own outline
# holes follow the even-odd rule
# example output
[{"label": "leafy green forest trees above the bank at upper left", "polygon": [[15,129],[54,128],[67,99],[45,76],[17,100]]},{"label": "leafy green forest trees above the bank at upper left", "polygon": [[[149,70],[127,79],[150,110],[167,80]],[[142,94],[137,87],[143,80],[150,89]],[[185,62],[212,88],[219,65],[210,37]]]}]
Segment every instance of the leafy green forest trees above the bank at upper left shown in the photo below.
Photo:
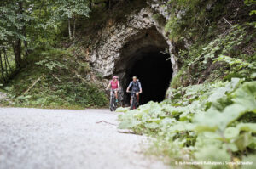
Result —
[{"label": "leafy green forest trees above the bank at upper left", "polygon": [[[56,43],[61,25],[68,24],[70,39],[75,37],[76,20],[88,17],[89,0],[3,0],[0,3],[0,75],[6,82],[35,48],[45,49]],[[71,29],[73,21],[73,31]]]}]

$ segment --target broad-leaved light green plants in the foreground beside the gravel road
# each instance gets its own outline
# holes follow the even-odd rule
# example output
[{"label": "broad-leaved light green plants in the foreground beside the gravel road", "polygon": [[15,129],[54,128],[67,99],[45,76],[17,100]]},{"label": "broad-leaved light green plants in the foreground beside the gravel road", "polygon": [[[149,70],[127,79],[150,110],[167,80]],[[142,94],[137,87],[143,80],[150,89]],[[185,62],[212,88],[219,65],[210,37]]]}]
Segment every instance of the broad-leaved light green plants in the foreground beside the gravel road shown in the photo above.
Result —
[{"label": "broad-leaved light green plants in the foreground beside the gravel road", "polygon": [[256,82],[233,78],[173,89],[170,100],[149,102],[120,115],[119,127],[156,137],[152,149],[171,161],[243,160],[256,150],[251,113],[256,114]]}]

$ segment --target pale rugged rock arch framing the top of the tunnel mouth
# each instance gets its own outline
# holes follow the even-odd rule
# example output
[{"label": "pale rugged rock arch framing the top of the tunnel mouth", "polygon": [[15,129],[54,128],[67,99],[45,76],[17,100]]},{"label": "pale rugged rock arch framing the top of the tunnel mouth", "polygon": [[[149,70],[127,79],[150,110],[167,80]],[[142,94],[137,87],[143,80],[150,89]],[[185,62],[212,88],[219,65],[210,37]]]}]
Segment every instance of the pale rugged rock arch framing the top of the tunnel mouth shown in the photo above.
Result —
[{"label": "pale rugged rock arch framing the top of the tunnel mouth", "polygon": [[[162,9],[160,9],[162,10]],[[108,78],[113,74],[124,76],[127,65],[143,52],[167,49],[171,55],[173,75],[177,73],[177,59],[172,54],[172,42],[164,27],[154,20],[152,8],[143,8],[127,16],[125,23],[106,25],[92,45],[89,60],[94,70]]]}]

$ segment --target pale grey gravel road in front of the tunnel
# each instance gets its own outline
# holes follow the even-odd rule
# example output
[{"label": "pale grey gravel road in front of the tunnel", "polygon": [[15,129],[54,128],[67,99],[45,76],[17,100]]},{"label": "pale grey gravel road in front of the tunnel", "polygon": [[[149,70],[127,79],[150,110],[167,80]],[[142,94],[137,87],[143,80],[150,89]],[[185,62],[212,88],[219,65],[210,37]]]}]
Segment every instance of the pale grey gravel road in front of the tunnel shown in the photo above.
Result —
[{"label": "pale grey gravel road in front of the tunnel", "polygon": [[108,110],[0,108],[0,169],[168,168],[143,155],[145,137],[119,133],[117,117]]}]

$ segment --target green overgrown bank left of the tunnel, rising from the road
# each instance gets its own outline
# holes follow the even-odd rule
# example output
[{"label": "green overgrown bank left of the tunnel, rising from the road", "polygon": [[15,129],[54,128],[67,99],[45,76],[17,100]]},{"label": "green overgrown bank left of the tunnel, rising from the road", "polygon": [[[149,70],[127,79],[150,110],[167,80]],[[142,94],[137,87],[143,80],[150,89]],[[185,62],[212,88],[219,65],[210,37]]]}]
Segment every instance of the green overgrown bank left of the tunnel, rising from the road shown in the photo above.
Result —
[{"label": "green overgrown bank left of the tunnel, rising from the road", "polygon": [[[78,50],[51,49],[31,54],[26,59],[26,66],[3,87],[13,101],[12,104],[3,104],[68,109],[106,106],[107,96],[101,84],[85,79],[92,74],[89,64],[79,59],[83,58],[82,52],[74,53]],[[39,77],[35,86],[24,94]]]}]

